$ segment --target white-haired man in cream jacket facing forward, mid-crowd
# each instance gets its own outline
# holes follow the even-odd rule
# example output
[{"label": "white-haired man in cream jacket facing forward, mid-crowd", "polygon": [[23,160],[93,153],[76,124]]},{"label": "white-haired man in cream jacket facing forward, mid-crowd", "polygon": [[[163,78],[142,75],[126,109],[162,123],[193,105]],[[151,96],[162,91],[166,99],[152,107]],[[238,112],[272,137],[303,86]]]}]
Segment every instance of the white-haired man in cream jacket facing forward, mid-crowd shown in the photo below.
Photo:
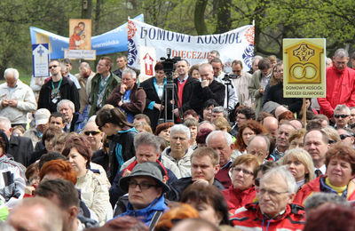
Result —
[{"label": "white-haired man in cream jacket facing forward, mid-crowd", "polygon": [[193,149],[189,148],[191,138],[190,130],[183,124],[176,124],[170,129],[170,147],[162,151],[162,156],[167,157],[176,164],[178,171],[174,171],[177,179],[191,177],[191,160]]}]

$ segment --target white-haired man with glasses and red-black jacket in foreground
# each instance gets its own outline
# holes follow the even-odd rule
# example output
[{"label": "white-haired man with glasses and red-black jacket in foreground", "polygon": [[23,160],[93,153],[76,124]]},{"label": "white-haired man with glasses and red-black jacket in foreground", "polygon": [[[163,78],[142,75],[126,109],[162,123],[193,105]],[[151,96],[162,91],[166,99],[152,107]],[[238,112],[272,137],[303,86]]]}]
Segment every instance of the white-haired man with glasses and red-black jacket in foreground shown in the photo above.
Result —
[{"label": "white-haired man with glasses and red-black jacket in foreground", "polygon": [[303,230],[304,207],[292,203],[296,180],[285,166],[265,173],[256,188],[257,203],[248,203],[231,218],[241,230]]}]

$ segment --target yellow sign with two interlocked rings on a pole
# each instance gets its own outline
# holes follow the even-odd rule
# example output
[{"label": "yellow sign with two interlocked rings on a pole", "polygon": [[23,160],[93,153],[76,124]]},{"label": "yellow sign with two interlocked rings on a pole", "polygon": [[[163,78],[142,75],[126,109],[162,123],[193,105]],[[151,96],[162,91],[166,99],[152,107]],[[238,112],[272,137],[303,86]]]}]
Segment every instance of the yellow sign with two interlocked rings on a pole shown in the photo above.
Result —
[{"label": "yellow sign with two interlocked rings on a pole", "polygon": [[285,98],[326,97],[326,39],[283,40]]}]

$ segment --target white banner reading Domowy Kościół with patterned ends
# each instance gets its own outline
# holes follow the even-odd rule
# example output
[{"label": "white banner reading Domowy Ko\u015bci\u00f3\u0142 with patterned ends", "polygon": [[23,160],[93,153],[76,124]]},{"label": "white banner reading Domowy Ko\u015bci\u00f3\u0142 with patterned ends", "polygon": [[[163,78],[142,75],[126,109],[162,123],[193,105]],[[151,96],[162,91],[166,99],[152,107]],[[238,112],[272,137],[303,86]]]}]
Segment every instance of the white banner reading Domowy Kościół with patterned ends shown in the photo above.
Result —
[{"label": "white banner reading Domowy Ko\u015bci\u00f3\u0142 with patterned ends", "polygon": [[154,47],[157,60],[166,57],[166,49],[170,48],[171,57],[179,56],[191,65],[207,62],[208,53],[217,50],[225,71],[231,71],[233,60],[241,60],[244,70],[248,70],[254,57],[254,27],[248,25],[218,35],[188,36],[129,20],[128,64],[134,68],[140,68],[139,45]]}]

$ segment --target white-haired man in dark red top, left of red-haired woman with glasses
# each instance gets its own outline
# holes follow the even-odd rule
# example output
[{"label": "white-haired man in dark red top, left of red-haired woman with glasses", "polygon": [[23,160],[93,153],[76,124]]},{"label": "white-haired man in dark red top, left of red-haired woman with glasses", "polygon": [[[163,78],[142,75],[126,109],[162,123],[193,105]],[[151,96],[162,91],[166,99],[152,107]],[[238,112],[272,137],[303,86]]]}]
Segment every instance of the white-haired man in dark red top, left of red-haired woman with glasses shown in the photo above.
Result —
[{"label": "white-haired man in dark red top, left of red-haired woman with glasses", "polygon": [[232,185],[229,170],[233,163],[233,138],[231,134],[226,131],[212,131],[206,138],[207,147],[212,147],[219,155],[220,169],[215,176],[225,188]]}]

